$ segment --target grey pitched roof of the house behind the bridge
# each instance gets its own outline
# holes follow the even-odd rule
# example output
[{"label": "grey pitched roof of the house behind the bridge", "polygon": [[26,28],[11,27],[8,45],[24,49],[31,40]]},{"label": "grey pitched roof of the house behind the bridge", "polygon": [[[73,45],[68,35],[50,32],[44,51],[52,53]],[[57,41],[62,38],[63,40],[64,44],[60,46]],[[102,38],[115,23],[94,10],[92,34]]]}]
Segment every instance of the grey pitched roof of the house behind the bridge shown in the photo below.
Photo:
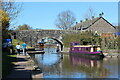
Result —
[{"label": "grey pitched roof of the house behind the bridge", "polygon": [[[90,26],[92,26],[95,22],[97,22],[100,18],[104,19],[103,17],[97,17],[94,18],[92,20],[87,20],[85,22],[81,22],[76,24],[75,26],[73,26],[71,29],[73,28],[77,28],[78,30],[80,29],[80,27],[82,27],[82,30],[85,30],[87,28],[89,28]],[[105,20],[105,19],[104,19]],[[107,20],[105,20],[107,23],[109,23]],[[110,23],[109,23],[110,24]],[[112,24],[110,24],[111,26],[113,26]],[[113,26],[114,27],[114,26]],[[114,27],[115,28],[115,27]]]}]

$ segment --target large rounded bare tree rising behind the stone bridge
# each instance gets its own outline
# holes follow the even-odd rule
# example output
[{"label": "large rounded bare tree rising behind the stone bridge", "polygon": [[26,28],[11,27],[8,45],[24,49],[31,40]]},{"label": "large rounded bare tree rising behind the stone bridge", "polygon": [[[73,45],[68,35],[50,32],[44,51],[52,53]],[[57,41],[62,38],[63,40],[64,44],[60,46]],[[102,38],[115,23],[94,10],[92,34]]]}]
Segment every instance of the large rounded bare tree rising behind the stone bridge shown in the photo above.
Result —
[{"label": "large rounded bare tree rising behind the stone bridge", "polygon": [[69,30],[75,23],[75,20],[76,18],[73,13],[70,10],[67,10],[58,14],[55,25],[57,28]]}]

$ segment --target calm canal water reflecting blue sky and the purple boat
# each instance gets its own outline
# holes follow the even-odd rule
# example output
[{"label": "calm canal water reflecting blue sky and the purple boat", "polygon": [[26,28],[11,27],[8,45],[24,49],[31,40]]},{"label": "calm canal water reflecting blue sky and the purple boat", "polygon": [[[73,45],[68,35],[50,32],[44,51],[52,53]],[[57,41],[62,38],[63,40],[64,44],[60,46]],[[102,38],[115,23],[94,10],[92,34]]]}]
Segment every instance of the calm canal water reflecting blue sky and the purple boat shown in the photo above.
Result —
[{"label": "calm canal water reflecting blue sky and the purple boat", "polygon": [[61,54],[55,48],[45,48],[44,54],[32,54],[44,78],[118,78],[118,58],[91,60]]}]

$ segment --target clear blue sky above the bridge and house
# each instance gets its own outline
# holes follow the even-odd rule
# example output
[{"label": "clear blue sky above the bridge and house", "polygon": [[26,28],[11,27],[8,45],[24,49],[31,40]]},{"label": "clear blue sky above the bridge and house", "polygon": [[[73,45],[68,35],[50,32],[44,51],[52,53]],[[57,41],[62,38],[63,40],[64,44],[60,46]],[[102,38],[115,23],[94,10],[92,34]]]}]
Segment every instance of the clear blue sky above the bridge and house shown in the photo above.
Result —
[{"label": "clear blue sky above the bridge and house", "polygon": [[33,29],[58,29],[55,21],[60,12],[72,11],[76,22],[80,22],[85,20],[89,8],[94,10],[95,17],[103,12],[103,17],[111,24],[118,23],[118,2],[23,2],[22,8],[15,26],[28,24]]}]

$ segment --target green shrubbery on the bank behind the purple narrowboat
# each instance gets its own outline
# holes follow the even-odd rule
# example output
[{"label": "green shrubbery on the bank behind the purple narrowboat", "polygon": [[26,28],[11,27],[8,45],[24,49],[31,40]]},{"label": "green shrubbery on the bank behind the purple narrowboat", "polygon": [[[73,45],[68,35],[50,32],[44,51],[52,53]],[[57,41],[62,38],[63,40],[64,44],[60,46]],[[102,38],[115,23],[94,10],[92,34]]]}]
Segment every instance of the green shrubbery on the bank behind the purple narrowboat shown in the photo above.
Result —
[{"label": "green shrubbery on the bank behind the purple narrowboat", "polygon": [[65,47],[70,47],[70,42],[80,42],[81,45],[101,45],[102,39],[99,35],[94,35],[91,31],[74,34],[64,34],[63,43]]}]

